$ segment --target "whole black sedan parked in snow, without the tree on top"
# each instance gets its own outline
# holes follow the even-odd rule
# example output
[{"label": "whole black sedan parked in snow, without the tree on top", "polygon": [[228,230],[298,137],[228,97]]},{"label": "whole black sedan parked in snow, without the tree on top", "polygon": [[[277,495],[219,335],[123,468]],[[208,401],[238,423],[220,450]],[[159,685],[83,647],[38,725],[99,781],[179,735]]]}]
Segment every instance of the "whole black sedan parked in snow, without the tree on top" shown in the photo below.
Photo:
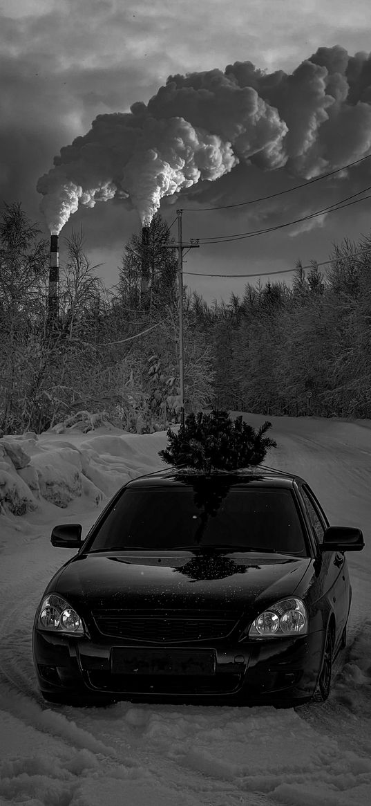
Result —
[{"label": "whole black sedan parked in snow, without the tree on top", "polygon": [[130,481],[35,614],[45,700],[233,704],[323,701],[346,642],[346,551],[357,528],[329,526],[299,476],[163,471]]}]

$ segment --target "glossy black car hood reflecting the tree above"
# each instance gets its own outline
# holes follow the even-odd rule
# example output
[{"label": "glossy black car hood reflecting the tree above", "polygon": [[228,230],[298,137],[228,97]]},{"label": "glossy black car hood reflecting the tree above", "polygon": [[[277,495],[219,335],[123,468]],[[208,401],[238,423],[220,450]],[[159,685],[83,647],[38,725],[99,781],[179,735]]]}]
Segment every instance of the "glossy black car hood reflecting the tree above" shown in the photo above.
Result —
[{"label": "glossy black car hood reflecting the tree above", "polygon": [[77,555],[47,588],[94,608],[237,608],[306,588],[309,558],[255,553]]}]

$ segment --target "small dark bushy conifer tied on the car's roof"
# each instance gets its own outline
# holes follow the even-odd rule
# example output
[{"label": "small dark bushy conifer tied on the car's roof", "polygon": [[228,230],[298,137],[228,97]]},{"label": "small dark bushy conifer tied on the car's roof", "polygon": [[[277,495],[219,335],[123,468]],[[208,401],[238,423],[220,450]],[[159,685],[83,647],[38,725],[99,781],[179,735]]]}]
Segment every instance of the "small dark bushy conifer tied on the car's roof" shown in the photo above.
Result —
[{"label": "small dark bushy conifer tied on the car's roof", "polygon": [[177,434],[167,431],[169,443],[159,455],[176,467],[231,472],[261,463],[267,449],[276,447],[274,439],[265,436],[270,425],[266,421],[255,431],[242,417],[232,420],[226,411],[191,413]]}]

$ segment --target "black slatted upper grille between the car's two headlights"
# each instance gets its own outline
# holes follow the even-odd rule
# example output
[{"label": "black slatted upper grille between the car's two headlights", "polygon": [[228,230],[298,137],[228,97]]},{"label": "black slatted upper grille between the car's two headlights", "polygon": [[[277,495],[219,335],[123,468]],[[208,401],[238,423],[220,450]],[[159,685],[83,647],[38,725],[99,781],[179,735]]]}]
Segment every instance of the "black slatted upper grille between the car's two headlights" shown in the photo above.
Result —
[{"label": "black slatted upper grille between the car's two headlights", "polygon": [[237,625],[238,613],[218,611],[110,610],[93,613],[102,635],[145,643],[184,643],[226,638]]}]

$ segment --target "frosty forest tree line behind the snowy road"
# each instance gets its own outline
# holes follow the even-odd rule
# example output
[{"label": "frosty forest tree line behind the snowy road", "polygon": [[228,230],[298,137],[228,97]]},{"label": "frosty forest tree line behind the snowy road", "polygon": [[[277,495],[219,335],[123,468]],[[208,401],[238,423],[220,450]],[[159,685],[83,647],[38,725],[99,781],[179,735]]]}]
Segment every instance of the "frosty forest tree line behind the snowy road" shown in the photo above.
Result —
[{"label": "frosty forest tree line behind the snowy road", "polygon": [[[177,253],[156,214],[132,235],[107,291],[82,231],[61,239],[48,319],[49,243],[17,203],[0,215],[0,430],[40,433],[79,411],[142,433],[179,421]],[[246,285],[209,305],[183,296],[186,413],[210,406],[371,418],[371,239],[334,247],[324,273]]]}]

